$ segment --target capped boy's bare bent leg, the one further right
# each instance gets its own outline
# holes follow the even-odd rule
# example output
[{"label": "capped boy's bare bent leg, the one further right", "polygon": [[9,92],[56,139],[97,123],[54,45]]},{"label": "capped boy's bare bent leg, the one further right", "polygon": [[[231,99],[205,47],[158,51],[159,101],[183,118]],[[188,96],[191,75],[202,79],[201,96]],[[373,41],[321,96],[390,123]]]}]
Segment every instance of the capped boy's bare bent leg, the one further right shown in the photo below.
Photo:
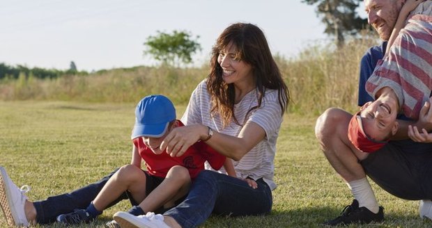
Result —
[{"label": "capped boy's bare bent leg, the one further right", "polygon": [[[187,168],[176,165],[171,168],[167,177],[153,190],[139,207],[144,212],[155,211],[165,204],[173,206],[173,203],[189,192],[191,179]],[[134,197],[135,198],[135,197]]]}]

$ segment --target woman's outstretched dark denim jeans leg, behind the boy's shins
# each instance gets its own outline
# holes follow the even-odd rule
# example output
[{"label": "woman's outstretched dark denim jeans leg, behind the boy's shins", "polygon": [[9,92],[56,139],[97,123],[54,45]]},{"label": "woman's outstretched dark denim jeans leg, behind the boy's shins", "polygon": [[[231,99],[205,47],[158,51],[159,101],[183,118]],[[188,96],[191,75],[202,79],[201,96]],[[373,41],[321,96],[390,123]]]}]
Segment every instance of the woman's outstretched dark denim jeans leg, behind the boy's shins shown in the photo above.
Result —
[{"label": "woman's outstretched dark denim jeans leg, behind the boy's shins", "polygon": [[[39,224],[47,224],[54,222],[56,217],[63,213],[70,213],[75,209],[86,209],[88,204],[90,204],[93,199],[95,199],[96,195],[98,195],[100,190],[102,190],[103,186],[107,184],[108,179],[117,170],[118,169],[103,177],[100,179],[100,181],[74,190],[71,193],[56,195],[48,197],[42,201],[33,202],[37,213],[36,222]],[[128,195],[126,193],[123,193],[123,195],[118,197],[118,199],[112,202],[109,206],[113,206],[123,199],[128,199]]]}]

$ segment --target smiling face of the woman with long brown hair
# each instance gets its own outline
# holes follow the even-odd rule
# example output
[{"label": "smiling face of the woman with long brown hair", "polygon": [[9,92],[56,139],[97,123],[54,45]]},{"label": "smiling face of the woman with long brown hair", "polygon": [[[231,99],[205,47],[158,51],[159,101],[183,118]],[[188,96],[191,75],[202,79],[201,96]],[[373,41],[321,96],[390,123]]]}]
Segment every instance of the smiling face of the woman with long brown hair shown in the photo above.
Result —
[{"label": "smiling face of the woman with long brown hair", "polygon": [[233,44],[219,52],[217,63],[222,67],[222,79],[224,79],[225,83],[239,85],[254,83],[252,66],[240,59]]}]

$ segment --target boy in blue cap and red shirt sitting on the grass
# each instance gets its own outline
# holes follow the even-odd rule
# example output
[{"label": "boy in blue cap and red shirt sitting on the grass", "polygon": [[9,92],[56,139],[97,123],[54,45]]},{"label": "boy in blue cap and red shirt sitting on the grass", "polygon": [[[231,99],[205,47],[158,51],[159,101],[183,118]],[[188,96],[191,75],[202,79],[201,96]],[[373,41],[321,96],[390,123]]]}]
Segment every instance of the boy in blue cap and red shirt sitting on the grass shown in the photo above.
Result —
[{"label": "boy in blue cap and red shirt sitting on the grass", "polygon": [[[160,143],[171,129],[184,126],[176,120],[176,110],[167,97],[144,97],[137,104],[135,115],[131,164],[123,166],[109,179],[87,209],[59,215],[58,222],[68,225],[90,222],[125,191],[132,204],[141,202],[128,211],[133,215],[170,208],[187,194],[191,181],[204,169],[205,161],[216,170],[225,163],[226,172],[236,176],[231,160],[204,142],[196,142],[179,157],[160,150]],[[146,171],[141,170],[141,159],[146,163]],[[118,227],[114,221],[107,226]]]}]

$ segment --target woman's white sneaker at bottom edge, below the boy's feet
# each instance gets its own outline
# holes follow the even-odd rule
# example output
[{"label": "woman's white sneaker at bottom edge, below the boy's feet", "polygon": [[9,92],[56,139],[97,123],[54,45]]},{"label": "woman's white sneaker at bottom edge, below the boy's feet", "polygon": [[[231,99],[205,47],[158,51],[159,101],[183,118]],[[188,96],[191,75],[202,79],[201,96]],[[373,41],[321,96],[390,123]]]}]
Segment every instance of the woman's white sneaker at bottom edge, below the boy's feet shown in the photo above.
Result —
[{"label": "woman's white sneaker at bottom edge, below the boy's feet", "polygon": [[114,220],[121,228],[170,228],[164,222],[164,216],[148,212],[146,215],[132,215],[127,212],[118,211],[114,214]]}]

